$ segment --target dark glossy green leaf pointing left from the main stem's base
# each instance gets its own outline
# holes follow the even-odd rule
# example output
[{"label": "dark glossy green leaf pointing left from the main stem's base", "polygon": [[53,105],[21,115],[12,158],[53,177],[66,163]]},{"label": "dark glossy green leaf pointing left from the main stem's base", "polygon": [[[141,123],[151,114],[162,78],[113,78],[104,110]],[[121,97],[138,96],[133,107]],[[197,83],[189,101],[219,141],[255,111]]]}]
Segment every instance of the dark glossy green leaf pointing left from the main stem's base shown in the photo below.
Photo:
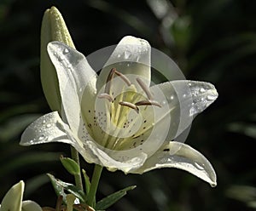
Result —
[{"label": "dark glossy green leaf pointing left from the main stem's base", "polygon": [[[80,202],[85,202],[86,197],[84,194],[84,191],[80,190],[77,186],[71,184],[71,183],[66,183],[61,180],[55,179],[55,177],[52,174],[48,174],[49,179],[51,180],[52,184],[55,187],[55,191],[59,191],[61,194],[65,194],[65,191],[68,191],[69,193],[72,193],[75,197],[78,197]],[[58,194],[58,192],[57,192]],[[61,195],[63,196],[63,195]],[[66,201],[67,195],[65,194],[65,202]],[[64,196],[63,196],[63,201],[64,201]]]}]

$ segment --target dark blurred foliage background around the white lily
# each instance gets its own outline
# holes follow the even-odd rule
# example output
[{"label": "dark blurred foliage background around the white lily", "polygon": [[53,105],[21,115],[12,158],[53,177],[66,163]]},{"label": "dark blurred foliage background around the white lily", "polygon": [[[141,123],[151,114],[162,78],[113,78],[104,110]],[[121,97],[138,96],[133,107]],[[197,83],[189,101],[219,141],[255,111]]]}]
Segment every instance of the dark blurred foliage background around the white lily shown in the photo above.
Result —
[{"label": "dark blurred foliage background around the white lily", "polygon": [[[166,13],[155,13],[149,2],[160,3]],[[52,5],[85,55],[125,35],[143,37],[170,55],[187,78],[211,82],[218,89],[218,100],[196,117],[186,141],[211,161],[217,187],[173,168],[127,176],[105,169],[98,198],[137,185],[109,210],[256,208],[253,0],[0,0],[0,198],[25,180],[25,199],[54,207],[55,193],[45,173],[73,182],[59,161],[61,154],[69,155],[67,145],[19,145],[24,128],[49,112],[39,77],[39,36],[44,10]],[[90,174],[92,166],[82,165]]]}]

